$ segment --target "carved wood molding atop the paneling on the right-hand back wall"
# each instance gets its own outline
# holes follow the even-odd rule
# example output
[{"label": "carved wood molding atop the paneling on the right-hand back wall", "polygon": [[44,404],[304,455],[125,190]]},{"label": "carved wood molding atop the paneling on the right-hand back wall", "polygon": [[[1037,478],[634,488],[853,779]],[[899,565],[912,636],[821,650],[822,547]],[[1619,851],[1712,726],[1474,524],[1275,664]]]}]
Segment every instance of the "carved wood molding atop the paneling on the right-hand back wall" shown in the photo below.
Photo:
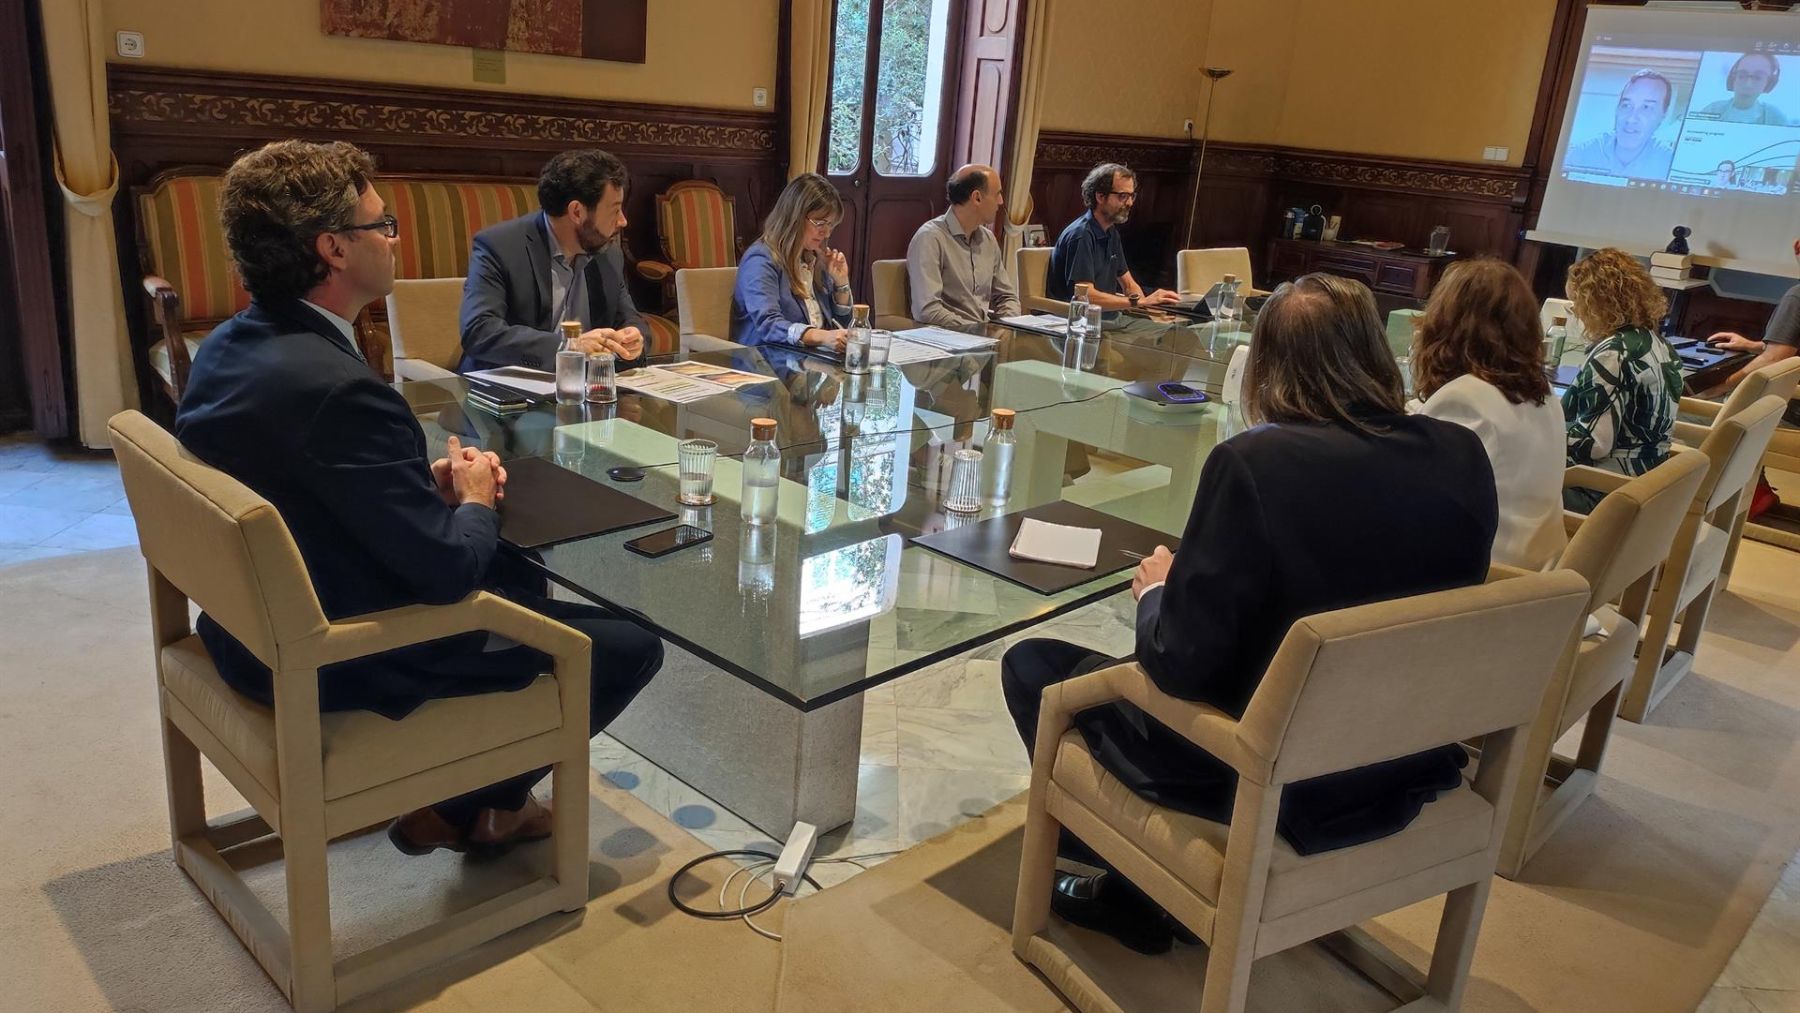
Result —
[{"label": "carved wood molding atop the paneling on the right-hand back wall", "polygon": [[[1037,164],[1046,169],[1123,162],[1139,173],[1192,173],[1197,155],[1199,144],[1154,137],[1044,133],[1037,144]],[[1530,184],[1526,169],[1251,144],[1210,144],[1206,175],[1210,180],[1215,175],[1278,178],[1507,203],[1523,202]]]}]

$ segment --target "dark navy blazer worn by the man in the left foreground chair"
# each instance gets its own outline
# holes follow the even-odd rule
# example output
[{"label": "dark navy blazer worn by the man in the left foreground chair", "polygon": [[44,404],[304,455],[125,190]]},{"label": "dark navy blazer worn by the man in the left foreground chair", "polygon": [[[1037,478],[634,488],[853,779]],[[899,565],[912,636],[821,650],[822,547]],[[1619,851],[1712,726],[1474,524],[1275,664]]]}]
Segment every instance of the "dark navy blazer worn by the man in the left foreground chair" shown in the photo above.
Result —
[{"label": "dark navy blazer worn by the man in the left foreground chair", "polygon": [[[293,533],[331,619],[403,605],[459,601],[490,581],[499,515],[448,506],[432,480],[425,434],[407,401],[344,335],[301,302],[263,304],[200,345],[175,416],[175,435],[207,464],[274,504]],[[270,702],[263,662],[202,615],[200,637],[227,684]],[[331,666],[320,705],[400,718],[434,696],[518,689],[533,669],[473,669],[448,687],[472,633]]]}]

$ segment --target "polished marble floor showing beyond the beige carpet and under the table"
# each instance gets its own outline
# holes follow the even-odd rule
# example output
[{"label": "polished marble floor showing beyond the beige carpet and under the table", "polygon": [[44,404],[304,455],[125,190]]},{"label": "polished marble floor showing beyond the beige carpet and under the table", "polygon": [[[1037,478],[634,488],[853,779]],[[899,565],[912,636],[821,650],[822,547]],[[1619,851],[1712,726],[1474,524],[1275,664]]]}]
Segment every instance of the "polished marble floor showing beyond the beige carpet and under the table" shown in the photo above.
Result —
[{"label": "polished marble floor showing beyond the beige carpet and under the table", "polygon": [[[110,455],[0,437],[0,567],[135,545]],[[1120,594],[1031,632],[1093,650],[1130,650],[1130,599]],[[1019,637],[1015,637],[1019,639]],[[902,677],[864,696],[857,819],[828,835],[814,876],[826,887],[943,829],[979,819],[1022,792],[1030,770],[1006,716],[999,657],[1006,642]],[[718,849],[779,849],[706,795],[610,736],[594,770]],[[1789,864],[1750,934],[1701,1006],[1703,1013],[1800,1013],[1800,864]]]}]

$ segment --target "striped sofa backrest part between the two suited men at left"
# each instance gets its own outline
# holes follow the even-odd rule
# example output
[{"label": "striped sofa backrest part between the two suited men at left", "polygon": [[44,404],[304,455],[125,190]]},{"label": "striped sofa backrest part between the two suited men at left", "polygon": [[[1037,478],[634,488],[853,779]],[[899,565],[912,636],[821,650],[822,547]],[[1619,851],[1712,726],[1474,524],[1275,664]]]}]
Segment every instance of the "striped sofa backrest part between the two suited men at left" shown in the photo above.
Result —
[{"label": "striped sofa backrest part between the two suited men at left", "polygon": [[376,180],[400,220],[394,277],[463,277],[475,232],[538,211],[536,184]]}]

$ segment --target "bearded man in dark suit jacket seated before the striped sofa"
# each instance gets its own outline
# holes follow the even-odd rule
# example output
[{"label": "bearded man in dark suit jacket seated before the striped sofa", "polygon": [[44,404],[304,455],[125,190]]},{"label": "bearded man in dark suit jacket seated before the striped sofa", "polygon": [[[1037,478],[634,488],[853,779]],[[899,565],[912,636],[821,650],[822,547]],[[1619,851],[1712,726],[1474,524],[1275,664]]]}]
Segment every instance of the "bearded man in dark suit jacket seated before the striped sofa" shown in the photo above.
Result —
[{"label": "bearded man in dark suit jacket seated before the striped sofa", "polygon": [[585,353],[643,365],[644,320],[625,288],[625,164],[599,149],[563,151],[538,175],[544,211],[475,234],[463,282],[461,371],[554,369],[558,326],[581,322]]}]

